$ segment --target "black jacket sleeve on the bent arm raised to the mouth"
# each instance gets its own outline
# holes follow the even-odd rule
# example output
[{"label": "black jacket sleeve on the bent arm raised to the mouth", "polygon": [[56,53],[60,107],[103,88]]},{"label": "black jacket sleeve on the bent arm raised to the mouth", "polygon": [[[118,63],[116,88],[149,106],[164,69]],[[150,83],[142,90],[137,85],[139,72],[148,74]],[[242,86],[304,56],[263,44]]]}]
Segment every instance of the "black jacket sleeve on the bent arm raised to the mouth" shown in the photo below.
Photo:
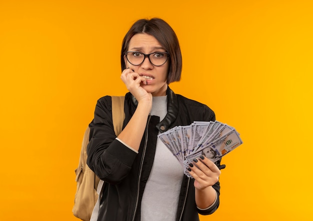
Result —
[{"label": "black jacket sleeve on the bent arm raised to the mouth", "polygon": [[137,153],[115,139],[111,97],[105,96],[97,101],[89,128],[87,165],[105,182],[120,182],[131,169]]}]

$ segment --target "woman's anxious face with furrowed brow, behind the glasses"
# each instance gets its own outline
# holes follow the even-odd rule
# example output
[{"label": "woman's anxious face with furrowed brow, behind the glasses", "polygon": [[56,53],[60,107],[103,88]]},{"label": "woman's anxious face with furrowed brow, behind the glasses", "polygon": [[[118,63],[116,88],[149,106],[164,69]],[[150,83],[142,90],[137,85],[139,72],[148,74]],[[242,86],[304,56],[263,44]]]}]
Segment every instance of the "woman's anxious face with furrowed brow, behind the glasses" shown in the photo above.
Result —
[{"label": "woman's anxious face with furrowed brow, behind the glasses", "polygon": [[[154,52],[166,52],[161,44],[151,35],[136,34],[130,41],[127,51],[141,52],[143,54],[150,54]],[[169,67],[169,59],[161,66],[154,66],[150,63],[148,58],[145,58],[143,63],[135,66],[130,64],[126,56],[124,56],[126,68],[130,68],[140,76],[144,76],[147,84],[140,84],[140,86],[151,93],[152,96],[165,96],[167,89],[167,73]]]}]

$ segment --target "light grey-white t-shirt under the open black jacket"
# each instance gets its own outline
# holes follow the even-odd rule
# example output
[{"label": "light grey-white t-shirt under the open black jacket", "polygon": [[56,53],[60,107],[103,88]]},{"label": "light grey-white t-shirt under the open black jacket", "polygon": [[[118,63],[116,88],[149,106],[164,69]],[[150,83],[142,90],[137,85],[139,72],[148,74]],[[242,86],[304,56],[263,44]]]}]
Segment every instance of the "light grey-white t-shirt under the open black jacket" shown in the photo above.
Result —
[{"label": "light grey-white t-shirt under the open black jacket", "polygon": [[[167,113],[166,96],[152,98],[151,115],[160,117]],[[159,140],[152,169],[141,201],[141,221],[174,221],[183,168],[170,150]]]}]

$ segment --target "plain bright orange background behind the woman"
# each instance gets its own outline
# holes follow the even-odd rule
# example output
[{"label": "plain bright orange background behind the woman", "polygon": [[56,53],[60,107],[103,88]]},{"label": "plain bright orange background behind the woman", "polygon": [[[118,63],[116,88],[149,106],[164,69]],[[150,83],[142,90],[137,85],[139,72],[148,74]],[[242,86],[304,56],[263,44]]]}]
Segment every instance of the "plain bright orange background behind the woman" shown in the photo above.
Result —
[{"label": "plain bright orange background behind the woman", "polygon": [[312,220],[312,1],[0,0],[0,220],[71,213],[96,100],[123,95],[121,40],[140,18],[176,32],[182,79],[243,144],[204,220]]}]

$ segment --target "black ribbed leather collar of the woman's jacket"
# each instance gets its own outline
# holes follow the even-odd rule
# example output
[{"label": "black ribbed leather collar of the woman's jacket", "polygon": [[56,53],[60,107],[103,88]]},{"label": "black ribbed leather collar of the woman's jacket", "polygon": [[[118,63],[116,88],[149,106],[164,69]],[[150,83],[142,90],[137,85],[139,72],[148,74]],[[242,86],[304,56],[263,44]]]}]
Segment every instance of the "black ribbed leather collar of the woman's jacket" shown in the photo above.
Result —
[{"label": "black ribbed leather collar of the woman's jacket", "polygon": [[[176,94],[167,86],[166,89],[167,95],[167,114],[164,119],[156,125],[156,128],[159,132],[163,133],[170,128],[170,125],[176,120],[178,115],[178,101]],[[138,102],[134,96],[131,95],[132,103],[137,106]]]}]

